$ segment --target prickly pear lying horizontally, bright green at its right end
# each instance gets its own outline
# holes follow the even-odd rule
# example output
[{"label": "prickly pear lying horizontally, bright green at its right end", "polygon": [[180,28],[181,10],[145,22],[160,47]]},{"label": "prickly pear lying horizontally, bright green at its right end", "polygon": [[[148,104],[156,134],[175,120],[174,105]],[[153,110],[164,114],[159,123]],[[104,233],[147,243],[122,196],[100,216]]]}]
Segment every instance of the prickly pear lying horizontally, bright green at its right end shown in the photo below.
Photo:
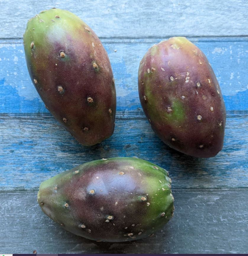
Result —
[{"label": "prickly pear lying horizontally, bright green at its right end", "polygon": [[151,235],[173,216],[168,172],[137,158],[91,161],[41,183],[43,212],[78,236],[109,242]]}]

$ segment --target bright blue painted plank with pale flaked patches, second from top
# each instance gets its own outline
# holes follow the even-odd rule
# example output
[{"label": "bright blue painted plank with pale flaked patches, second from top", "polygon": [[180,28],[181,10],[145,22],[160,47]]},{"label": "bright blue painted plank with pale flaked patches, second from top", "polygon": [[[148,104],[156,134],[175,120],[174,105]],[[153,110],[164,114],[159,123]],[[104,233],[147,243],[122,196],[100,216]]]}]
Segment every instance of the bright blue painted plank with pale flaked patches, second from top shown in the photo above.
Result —
[{"label": "bright blue painted plank with pale flaked patches, second from top", "polygon": [[[227,110],[248,110],[248,38],[191,39],[207,55]],[[117,111],[140,108],[137,72],[155,39],[104,39],[116,80]],[[117,50],[115,52],[114,50]],[[48,113],[29,77],[22,41],[0,44],[0,113]]]}]

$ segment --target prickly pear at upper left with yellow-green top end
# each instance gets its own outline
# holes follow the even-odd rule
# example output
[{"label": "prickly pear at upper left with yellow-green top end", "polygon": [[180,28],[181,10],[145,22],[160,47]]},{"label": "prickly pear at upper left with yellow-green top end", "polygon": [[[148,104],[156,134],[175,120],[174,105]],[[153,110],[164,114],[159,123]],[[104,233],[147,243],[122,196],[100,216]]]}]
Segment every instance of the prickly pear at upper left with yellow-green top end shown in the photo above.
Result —
[{"label": "prickly pear at upper left with yellow-green top end", "polygon": [[110,137],[116,91],[94,31],[71,12],[50,9],[28,21],[23,37],[30,77],[52,115],[82,145]]}]

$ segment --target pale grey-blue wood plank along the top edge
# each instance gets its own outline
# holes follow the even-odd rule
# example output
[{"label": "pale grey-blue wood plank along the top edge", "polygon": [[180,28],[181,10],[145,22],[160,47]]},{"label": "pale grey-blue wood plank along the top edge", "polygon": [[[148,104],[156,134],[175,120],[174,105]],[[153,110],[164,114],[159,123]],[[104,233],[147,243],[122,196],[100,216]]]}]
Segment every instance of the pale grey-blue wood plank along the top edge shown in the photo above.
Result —
[{"label": "pale grey-blue wood plank along the top edge", "polygon": [[100,37],[248,35],[245,0],[1,0],[0,38],[22,38],[27,21],[43,9],[67,9]]}]

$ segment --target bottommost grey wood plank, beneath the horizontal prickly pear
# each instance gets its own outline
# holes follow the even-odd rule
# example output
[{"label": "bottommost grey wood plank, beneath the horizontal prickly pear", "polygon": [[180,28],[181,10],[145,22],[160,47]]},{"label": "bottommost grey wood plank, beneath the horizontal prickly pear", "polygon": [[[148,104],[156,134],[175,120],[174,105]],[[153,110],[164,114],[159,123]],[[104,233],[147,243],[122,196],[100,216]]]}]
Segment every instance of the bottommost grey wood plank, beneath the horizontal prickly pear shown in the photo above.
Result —
[{"label": "bottommost grey wood plank, beneath the horizontal prickly pear", "polygon": [[4,253],[247,253],[247,189],[176,190],[174,217],[155,236],[101,243],[64,231],[43,214],[37,191],[1,192]]}]

